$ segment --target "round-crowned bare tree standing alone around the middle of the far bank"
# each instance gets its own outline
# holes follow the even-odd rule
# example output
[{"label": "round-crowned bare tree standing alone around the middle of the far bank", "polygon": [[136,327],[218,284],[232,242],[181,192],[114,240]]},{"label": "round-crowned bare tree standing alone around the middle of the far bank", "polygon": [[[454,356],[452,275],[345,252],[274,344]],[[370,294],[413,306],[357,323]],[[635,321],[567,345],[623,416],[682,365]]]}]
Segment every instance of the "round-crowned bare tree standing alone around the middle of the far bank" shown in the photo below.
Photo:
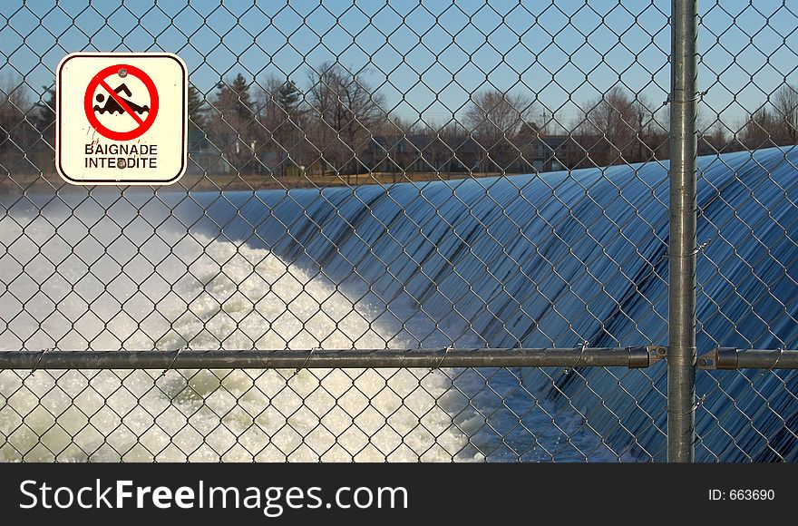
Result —
[{"label": "round-crowned bare tree standing alone around the middle of the far bank", "polygon": [[[521,94],[491,89],[472,96],[463,122],[482,147],[488,170],[507,171],[521,157],[520,132],[537,125],[532,100]],[[492,170],[491,170],[492,171]]]}]

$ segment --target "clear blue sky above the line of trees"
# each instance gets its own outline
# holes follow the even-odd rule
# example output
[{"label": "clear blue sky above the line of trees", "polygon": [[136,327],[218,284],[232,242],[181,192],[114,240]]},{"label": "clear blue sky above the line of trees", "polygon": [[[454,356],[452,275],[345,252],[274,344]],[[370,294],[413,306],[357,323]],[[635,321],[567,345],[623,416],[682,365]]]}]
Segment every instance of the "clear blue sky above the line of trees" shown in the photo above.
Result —
[{"label": "clear blue sky above the line of trees", "polygon": [[[737,122],[785,79],[798,83],[798,0],[699,5],[705,120]],[[660,0],[3,0],[0,74],[40,93],[70,52],[168,51],[210,94],[236,73],[289,76],[302,87],[308,68],[337,61],[411,120],[448,121],[470,93],[495,87],[568,123],[578,104],[618,82],[652,107],[665,102],[669,12]]]}]

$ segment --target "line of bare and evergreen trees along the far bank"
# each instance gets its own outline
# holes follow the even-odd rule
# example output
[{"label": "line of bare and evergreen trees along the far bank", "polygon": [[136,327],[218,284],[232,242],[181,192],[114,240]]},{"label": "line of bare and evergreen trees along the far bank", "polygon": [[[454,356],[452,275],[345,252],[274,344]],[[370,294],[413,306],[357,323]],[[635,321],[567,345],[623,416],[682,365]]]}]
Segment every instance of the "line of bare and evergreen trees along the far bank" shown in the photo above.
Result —
[{"label": "line of bare and evergreen trees along the far bank", "polygon": [[[413,122],[388,111],[363,74],[333,62],[309,68],[301,86],[241,73],[210,93],[190,86],[188,105],[192,154],[239,172],[512,173],[540,170],[546,158],[578,168],[668,157],[667,107],[619,84],[580,104],[568,123],[541,112],[530,95],[497,89],[473,93],[458,119]],[[0,155],[52,153],[54,106],[52,88],[35,101],[26,83],[3,79]],[[699,128],[703,153],[798,143],[798,90],[784,83],[744,122],[702,120]]]}]

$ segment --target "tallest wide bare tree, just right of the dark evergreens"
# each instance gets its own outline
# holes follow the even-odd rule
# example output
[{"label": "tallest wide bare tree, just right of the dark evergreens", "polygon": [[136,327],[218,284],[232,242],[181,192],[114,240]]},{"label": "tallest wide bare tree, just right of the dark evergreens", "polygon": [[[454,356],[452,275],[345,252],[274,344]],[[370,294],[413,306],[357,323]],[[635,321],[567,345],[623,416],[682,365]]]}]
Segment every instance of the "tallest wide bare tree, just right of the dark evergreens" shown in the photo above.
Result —
[{"label": "tallest wide bare tree, just right of the dark evergreens", "polygon": [[349,175],[360,170],[358,154],[385,121],[384,98],[339,63],[322,63],[309,73],[307,89],[311,136],[319,149],[322,173],[326,163]]}]

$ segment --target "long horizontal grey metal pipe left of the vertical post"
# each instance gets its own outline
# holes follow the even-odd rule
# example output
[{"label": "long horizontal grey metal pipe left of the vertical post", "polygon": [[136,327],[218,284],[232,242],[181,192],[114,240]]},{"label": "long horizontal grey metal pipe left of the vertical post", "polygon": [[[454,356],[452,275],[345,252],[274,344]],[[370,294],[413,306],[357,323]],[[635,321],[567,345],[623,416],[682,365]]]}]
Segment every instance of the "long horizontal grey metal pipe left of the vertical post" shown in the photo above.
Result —
[{"label": "long horizontal grey metal pipe left of the vertical post", "polygon": [[663,346],[291,351],[0,351],[0,369],[315,369],[385,367],[647,367]]}]

